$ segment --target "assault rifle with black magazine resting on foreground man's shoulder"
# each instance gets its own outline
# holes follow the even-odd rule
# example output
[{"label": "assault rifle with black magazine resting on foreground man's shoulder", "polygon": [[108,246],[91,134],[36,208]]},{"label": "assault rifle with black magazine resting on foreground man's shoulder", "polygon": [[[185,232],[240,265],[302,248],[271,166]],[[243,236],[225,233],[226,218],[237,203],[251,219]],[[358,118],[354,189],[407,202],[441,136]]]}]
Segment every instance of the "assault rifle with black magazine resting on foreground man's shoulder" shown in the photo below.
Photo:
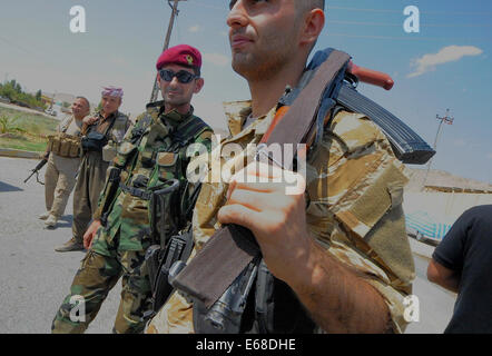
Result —
[{"label": "assault rifle with black magazine resting on foreground man's shoulder", "polygon": [[[317,52],[299,86],[281,99],[282,107],[264,135],[260,141],[263,145],[258,146],[257,157],[269,158],[267,147],[270,144],[289,144],[293,147],[306,144],[307,148],[313,147],[322,138],[323,128],[327,123],[325,119],[331,118],[338,106],[365,113],[380,127],[385,126],[386,130],[383,131],[401,160],[420,164],[427,161],[435,152],[400,119],[360,95],[354,88],[358,79],[371,79],[372,83],[386,89],[393,85],[388,76],[351,65],[346,53],[331,49]],[[270,161],[278,166],[276,161]],[[295,159],[281,164],[283,169],[293,169],[294,166]],[[255,264],[259,257],[259,247],[248,229],[226,225],[214,234],[188,266],[173,276],[173,285],[198,301],[198,305],[203,303],[211,313],[219,298],[224,299],[230,295],[232,289],[244,285],[244,280],[238,280],[237,276],[245,275],[245,268]],[[249,279],[252,276],[246,277]],[[230,309],[230,306],[222,308],[226,312]],[[229,313],[223,320],[234,317]],[[207,318],[217,324],[213,315],[208,314]],[[220,332],[219,328],[217,332]]]}]

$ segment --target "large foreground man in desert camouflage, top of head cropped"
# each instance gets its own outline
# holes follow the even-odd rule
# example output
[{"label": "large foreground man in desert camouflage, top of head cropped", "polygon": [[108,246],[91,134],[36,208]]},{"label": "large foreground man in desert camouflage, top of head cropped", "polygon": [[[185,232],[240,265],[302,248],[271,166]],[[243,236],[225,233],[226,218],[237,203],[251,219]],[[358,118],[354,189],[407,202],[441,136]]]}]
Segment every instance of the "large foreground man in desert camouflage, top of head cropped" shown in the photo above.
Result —
[{"label": "large foreground man in desert camouflage, top of head cropped", "polygon": [[[323,2],[230,1],[233,68],[247,79],[253,100],[226,106],[230,137],[223,147],[239,145],[246,157],[254,155],[247,145],[260,141],[278,98],[287,85],[296,86],[324,27]],[[238,154],[234,157],[246,161]],[[230,164],[230,158],[220,159],[223,169]],[[273,297],[266,300],[275,307],[255,307],[267,298],[258,290],[268,290],[259,289],[256,280],[239,332],[404,332],[405,297],[414,278],[402,210],[407,176],[382,131],[365,116],[342,110],[307,156],[305,179],[269,168],[252,164],[229,184],[204,182],[193,217],[190,259],[222,224],[237,224],[255,235],[275,277]],[[245,171],[250,180],[240,179]],[[305,189],[286,195],[285,182],[249,182],[285,176],[301,186],[305,182]],[[283,298],[278,286],[294,295],[294,303],[275,303]],[[296,313],[304,324],[281,323],[292,322]],[[147,333],[196,333],[200,317],[189,298],[175,293]],[[268,324],[272,320],[278,324]]]}]

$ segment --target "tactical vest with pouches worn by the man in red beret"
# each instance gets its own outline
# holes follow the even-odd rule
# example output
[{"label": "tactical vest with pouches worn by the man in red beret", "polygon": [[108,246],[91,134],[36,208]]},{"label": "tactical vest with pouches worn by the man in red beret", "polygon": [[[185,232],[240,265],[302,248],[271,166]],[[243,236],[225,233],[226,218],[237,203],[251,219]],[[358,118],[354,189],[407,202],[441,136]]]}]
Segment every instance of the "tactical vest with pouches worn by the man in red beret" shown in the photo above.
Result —
[{"label": "tactical vest with pouches worn by the man in red beret", "polygon": [[[150,108],[150,113],[138,120],[130,135],[118,147],[114,164],[121,169],[121,190],[144,200],[150,200],[151,191],[170,179],[179,181],[179,189],[167,196],[166,201],[157,206],[157,211],[147,209],[146,212],[157,235],[164,233],[169,236],[184,228],[188,220],[184,211],[183,194],[188,184],[186,167],[189,158],[186,149],[204,131],[209,130],[209,127],[200,118],[190,115],[175,129],[168,130],[158,122],[160,111],[157,109],[158,107],[151,111]],[[173,214],[161,211],[159,206],[166,206],[166,210],[171,210]],[[156,226],[156,220],[159,219],[165,219],[166,231],[160,231],[163,225]]]}]

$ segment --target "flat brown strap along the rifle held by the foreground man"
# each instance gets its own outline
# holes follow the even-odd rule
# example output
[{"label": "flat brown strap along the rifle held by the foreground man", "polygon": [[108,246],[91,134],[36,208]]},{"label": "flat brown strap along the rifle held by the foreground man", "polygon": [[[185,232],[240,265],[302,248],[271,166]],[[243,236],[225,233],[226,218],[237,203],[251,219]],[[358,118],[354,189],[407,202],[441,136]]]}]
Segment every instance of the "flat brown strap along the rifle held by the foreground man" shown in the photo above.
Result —
[{"label": "flat brown strap along the rifle held by the foreground man", "polygon": [[[298,99],[283,117],[282,125],[273,128],[262,142],[267,146],[293,144],[294,147],[302,144],[319,125],[319,118],[323,120],[335,106],[335,100],[329,98],[336,97],[348,60],[348,55],[331,51],[329,60],[319,67],[319,75],[301,91]],[[284,162],[283,168],[292,169],[293,165],[294,159]],[[177,275],[174,287],[209,308],[259,255],[259,247],[248,229],[237,225],[224,226]]]}]

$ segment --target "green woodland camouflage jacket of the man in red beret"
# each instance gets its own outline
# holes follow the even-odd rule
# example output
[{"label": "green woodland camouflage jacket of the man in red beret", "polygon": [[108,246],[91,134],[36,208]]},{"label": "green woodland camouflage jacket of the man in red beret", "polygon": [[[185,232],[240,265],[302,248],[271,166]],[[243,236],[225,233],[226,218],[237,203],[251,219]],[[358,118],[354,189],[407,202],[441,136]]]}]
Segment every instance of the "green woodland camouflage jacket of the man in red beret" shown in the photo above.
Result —
[{"label": "green woodland camouflage jacket of the man in red beret", "polygon": [[[186,178],[186,167],[194,156],[187,152],[187,148],[197,142],[209,150],[211,129],[193,115],[193,108],[187,115],[177,111],[164,115],[163,103],[158,101],[147,106],[147,112],[137,118],[136,125],[118,146],[112,165],[121,169],[121,184],[137,187],[138,181],[138,187],[145,191],[168,179],[178,179],[181,186],[179,211],[185,211],[189,208],[189,197],[195,189]],[[108,181],[94,219],[101,217],[107,191]],[[169,208],[169,214],[176,212],[176,207]],[[109,240],[119,231],[120,250],[141,250],[141,239],[149,235],[149,200],[119,188],[107,217],[106,234]],[[96,244],[92,247],[97,253],[106,254],[104,246]]]}]

